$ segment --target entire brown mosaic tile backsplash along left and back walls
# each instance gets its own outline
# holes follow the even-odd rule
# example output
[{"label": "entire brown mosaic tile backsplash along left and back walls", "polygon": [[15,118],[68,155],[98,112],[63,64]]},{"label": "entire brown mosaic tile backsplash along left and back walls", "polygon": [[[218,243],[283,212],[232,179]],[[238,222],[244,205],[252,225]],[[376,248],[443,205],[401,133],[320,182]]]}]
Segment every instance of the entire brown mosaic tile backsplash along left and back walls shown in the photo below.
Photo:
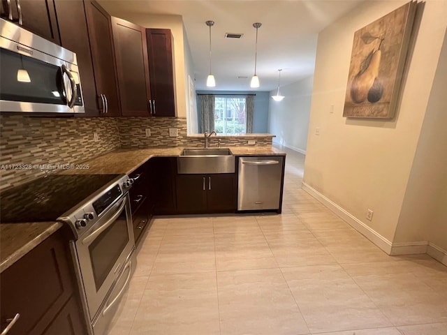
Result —
[{"label": "entire brown mosaic tile backsplash along left and back walls", "polygon": [[[170,137],[169,129],[177,136]],[[150,129],[150,136],[146,135]],[[97,134],[97,140],[94,138]],[[272,145],[272,136],[217,136],[210,147]],[[75,165],[115,149],[203,147],[203,137],[186,135],[186,118],[173,117],[30,117],[0,114],[0,190],[17,186],[59,165]]]}]

